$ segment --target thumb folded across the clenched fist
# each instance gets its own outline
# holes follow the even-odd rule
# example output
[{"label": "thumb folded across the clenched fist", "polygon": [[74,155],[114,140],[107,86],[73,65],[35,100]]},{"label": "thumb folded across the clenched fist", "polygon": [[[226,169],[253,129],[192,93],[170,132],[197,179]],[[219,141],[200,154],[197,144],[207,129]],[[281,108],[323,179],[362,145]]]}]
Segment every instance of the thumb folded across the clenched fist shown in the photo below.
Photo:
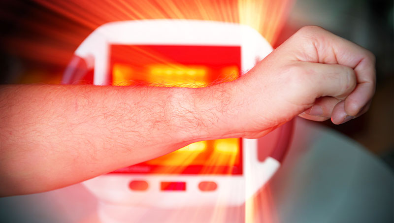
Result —
[{"label": "thumb folded across the clenched fist", "polygon": [[[311,89],[314,98],[332,96],[344,99],[355,89],[356,76],[354,70],[339,64],[302,64],[296,79],[304,89]],[[310,96],[310,95],[307,95]]]}]

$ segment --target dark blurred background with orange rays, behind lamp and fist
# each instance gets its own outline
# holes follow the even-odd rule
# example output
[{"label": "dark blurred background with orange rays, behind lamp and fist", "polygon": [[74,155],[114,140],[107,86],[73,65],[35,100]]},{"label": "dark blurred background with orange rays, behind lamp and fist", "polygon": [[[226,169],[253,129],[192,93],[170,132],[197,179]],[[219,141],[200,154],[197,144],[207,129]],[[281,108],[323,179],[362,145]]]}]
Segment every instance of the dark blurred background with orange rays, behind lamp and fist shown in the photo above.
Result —
[{"label": "dark blurred background with orange rays, behind lamp and fist", "polygon": [[377,89],[370,110],[340,126],[329,121],[321,125],[355,139],[393,168],[392,0],[173,2],[2,0],[0,83],[59,84],[80,42],[110,21],[188,18],[240,22],[256,28],[274,47],[299,28],[318,25],[372,51],[377,59]]}]

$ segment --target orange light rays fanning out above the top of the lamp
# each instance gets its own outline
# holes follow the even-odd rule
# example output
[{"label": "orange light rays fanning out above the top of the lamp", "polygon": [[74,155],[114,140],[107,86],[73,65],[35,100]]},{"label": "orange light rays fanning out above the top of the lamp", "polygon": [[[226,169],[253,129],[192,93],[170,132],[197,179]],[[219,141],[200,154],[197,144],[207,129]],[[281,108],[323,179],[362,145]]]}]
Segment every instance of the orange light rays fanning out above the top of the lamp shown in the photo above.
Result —
[{"label": "orange light rays fanning out above the top of the lamp", "polygon": [[113,21],[197,19],[240,23],[256,29],[271,45],[274,45],[293,2],[293,0],[35,1],[50,11],[32,9],[32,14],[37,19],[21,17],[18,20],[33,32],[33,37],[31,35],[5,37],[4,45],[18,56],[61,66],[66,66],[74,50],[90,32],[102,24]]}]

